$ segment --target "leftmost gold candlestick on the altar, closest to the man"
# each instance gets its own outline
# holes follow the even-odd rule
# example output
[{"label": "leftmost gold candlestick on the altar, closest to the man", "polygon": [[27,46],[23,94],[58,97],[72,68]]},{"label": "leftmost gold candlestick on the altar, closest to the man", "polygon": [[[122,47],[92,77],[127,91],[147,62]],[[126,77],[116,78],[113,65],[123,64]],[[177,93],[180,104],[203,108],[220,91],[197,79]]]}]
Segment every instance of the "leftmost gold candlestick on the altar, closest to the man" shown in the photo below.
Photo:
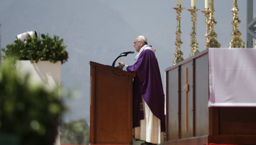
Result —
[{"label": "leftmost gold candlestick on the altar, closest to the man", "polygon": [[176,10],[176,13],[177,13],[177,30],[176,30],[176,41],[175,41],[175,45],[176,45],[176,50],[175,50],[175,58],[173,60],[173,65],[175,65],[176,63],[184,60],[183,59],[183,53],[182,51],[180,50],[180,45],[182,45],[182,41],[181,41],[181,38],[180,38],[180,35],[181,35],[181,31],[180,31],[180,20],[181,20],[181,16],[180,16],[180,13],[182,10],[184,10],[185,8],[181,8],[181,5],[177,5],[177,8],[173,8]]}]

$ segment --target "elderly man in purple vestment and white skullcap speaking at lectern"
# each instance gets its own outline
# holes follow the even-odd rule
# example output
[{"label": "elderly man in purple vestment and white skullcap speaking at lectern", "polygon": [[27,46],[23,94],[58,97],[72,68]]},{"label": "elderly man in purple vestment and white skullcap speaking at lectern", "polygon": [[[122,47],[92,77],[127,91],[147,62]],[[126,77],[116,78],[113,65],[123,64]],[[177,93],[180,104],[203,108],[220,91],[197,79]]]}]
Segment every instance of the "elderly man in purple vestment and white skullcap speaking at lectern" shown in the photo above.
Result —
[{"label": "elderly man in purple vestment and white skullcap speaking at lectern", "polygon": [[144,145],[160,144],[164,142],[165,113],[164,91],[156,49],[148,46],[145,36],[134,39],[137,52],[133,65],[127,66],[120,59],[118,68],[129,72],[136,72],[133,80],[133,128],[134,138],[144,140]]}]

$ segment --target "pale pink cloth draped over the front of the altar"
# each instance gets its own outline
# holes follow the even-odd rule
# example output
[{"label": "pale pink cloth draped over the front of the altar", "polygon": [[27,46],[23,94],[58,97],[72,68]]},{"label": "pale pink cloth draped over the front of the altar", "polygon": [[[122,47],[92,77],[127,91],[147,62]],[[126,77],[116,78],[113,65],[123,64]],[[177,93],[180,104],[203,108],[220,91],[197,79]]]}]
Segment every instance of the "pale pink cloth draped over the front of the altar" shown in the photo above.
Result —
[{"label": "pale pink cloth draped over the front of the altar", "polygon": [[208,107],[256,106],[256,49],[209,48]]}]

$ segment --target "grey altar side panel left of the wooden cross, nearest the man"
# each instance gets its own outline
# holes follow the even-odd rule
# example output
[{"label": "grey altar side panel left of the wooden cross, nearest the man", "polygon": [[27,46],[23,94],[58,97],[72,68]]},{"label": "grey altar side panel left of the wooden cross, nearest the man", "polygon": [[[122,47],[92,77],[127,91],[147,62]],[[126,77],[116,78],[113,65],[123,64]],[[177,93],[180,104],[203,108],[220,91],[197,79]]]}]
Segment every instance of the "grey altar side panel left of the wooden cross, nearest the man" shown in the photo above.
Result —
[{"label": "grey altar side panel left of the wooden cross, nearest the man", "polygon": [[179,70],[166,72],[166,140],[179,139]]}]

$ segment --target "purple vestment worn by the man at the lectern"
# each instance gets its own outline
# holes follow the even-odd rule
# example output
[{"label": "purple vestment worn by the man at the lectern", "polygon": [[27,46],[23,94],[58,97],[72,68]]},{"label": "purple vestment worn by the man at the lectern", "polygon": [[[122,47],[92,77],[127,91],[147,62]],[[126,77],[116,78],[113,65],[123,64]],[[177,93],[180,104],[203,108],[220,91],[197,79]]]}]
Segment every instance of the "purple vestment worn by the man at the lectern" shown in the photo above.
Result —
[{"label": "purple vestment worn by the man at the lectern", "polygon": [[165,131],[164,91],[155,53],[144,49],[137,62],[126,69],[136,72],[133,81],[133,128],[140,126],[140,120],[144,119],[143,110],[140,110],[142,96],[152,113],[161,120],[161,131]]}]

